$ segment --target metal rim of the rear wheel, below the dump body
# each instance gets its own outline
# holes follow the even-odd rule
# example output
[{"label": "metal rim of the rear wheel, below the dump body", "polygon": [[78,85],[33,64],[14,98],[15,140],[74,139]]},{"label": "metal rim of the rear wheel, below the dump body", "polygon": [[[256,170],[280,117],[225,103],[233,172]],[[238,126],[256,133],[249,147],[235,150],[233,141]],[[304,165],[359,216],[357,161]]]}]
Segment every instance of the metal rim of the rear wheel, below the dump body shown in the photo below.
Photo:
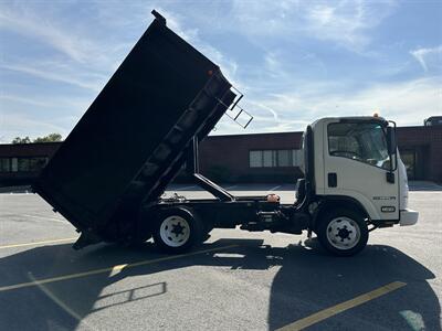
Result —
[{"label": "metal rim of the rear wheel, below the dump body", "polygon": [[169,216],[162,221],[159,235],[166,245],[170,247],[180,247],[189,241],[189,223],[181,216]]}]

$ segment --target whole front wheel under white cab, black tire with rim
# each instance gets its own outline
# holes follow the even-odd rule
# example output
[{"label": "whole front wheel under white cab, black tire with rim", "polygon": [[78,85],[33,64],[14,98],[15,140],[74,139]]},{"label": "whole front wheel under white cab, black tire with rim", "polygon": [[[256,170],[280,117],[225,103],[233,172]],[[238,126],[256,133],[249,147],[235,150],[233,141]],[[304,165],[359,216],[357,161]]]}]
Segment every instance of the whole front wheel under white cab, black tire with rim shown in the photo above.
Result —
[{"label": "whole front wheel under white cab, black tire with rim", "polygon": [[346,209],[330,210],[318,221],[316,234],[319,243],[332,254],[351,256],[366,247],[368,227],[359,213]]}]

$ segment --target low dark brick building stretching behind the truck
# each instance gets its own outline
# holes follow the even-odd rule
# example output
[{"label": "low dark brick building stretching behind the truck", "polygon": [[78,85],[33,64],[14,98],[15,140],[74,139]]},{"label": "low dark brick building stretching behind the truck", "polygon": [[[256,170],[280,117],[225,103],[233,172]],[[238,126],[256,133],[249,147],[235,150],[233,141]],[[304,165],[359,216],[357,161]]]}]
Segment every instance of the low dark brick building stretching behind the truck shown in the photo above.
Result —
[{"label": "low dark brick building stretching behind the truck", "polygon": [[[409,179],[442,182],[442,126],[400,127],[397,134]],[[219,182],[294,182],[302,175],[301,138],[302,132],[211,136],[200,145],[201,172]],[[31,183],[60,145],[0,145],[0,185]]]}]

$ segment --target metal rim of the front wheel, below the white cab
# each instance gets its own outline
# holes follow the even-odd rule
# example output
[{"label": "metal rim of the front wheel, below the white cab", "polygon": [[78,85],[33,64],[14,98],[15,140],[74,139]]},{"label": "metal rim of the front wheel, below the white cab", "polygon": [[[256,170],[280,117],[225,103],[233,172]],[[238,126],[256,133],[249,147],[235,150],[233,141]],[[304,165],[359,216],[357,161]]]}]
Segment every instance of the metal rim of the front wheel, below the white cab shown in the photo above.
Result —
[{"label": "metal rim of the front wheel, below the white cab", "polygon": [[327,226],[327,239],[337,249],[351,249],[360,239],[359,225],[349,217],[333,218]]}]

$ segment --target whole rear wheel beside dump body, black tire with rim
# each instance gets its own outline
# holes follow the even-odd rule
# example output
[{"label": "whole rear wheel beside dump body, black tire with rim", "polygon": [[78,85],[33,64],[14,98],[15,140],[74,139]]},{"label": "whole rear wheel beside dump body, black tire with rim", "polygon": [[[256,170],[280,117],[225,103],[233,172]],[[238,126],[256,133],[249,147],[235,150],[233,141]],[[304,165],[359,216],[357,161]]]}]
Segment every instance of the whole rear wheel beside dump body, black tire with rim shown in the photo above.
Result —
[{"label": "whole rear wheel beside dump body, black tire with rim", "polygon": [[157,247],[172,254],[183,253],[201,244],[203,234],[199,217],[192,214],[191,210],[183,207],[161,211],[152,228]]}]

